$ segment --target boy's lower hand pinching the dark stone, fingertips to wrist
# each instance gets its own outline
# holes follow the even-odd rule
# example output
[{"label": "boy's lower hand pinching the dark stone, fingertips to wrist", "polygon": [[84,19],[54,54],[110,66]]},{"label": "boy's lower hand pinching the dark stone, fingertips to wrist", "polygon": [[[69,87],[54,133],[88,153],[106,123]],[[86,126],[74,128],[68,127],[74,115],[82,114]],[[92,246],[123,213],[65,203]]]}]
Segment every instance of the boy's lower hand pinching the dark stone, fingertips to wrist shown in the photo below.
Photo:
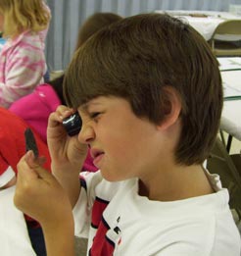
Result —
[{"label": "boy's lower hand pinching the dark stone, fingertips to wrist", "polygon": [[57,179],[34,160],[32,151],[18,164],[14,202],[43,228],[57,227],[63,220],[72,224],[72,206],[67,193]]}]

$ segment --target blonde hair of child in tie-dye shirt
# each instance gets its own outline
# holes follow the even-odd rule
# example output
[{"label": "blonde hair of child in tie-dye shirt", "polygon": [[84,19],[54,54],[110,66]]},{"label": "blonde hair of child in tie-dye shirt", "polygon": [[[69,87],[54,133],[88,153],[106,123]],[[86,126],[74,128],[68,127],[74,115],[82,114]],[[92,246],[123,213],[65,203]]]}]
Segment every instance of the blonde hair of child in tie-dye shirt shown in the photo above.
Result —
[{"label": "blonde hair of child in tie-dye shirt", "polygon": [[25,30],[44,30],[51,19],[43,0],[1,0],[0,13],[4,16],[5,37],[14,37]]}]

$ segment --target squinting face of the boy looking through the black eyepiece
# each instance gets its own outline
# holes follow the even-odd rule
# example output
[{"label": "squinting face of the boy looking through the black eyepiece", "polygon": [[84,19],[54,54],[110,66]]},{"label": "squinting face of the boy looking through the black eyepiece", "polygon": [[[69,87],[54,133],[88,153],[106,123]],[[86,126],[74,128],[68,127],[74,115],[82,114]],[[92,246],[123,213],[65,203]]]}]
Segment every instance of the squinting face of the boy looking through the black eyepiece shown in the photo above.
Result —
[{"label": "squinting face of the boy looking through the black eyepiece", "polygon": [[78,108],[82,128],[78,139],[88,143],[94,164],[105,179],[142,177],[160,160],[160,132],[137,118],[118,97],[97,97]]}]

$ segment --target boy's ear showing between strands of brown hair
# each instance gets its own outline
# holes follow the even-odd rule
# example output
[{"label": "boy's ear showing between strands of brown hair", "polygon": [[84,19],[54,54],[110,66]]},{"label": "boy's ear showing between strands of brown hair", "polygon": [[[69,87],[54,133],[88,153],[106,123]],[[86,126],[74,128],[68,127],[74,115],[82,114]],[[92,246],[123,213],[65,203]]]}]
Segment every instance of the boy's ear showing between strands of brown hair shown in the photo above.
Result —
[{"label": "boy's ear showing between strands of brown hair", "polygon": [[179,93],[175,88],[166,86],[164,88],[166,95],[163,108],[164,108],[164,119],[159,125],[160,129],[167,129],[175,124],[179,118],[181,112],[181,99]]}]

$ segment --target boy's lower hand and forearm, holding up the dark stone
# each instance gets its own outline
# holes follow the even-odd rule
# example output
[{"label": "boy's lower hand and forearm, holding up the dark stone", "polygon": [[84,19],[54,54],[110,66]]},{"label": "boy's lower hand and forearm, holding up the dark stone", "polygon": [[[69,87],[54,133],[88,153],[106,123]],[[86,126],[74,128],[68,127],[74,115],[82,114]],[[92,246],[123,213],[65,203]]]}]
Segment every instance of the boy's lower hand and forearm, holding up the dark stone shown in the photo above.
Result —
[{"label": "boy's lower hand and forearm, holding up the dark stone", "polygon": [[72,206],[60,183],[28,151],[18,164],[15,205],[38,221],[48,255],[74,255]]}]

